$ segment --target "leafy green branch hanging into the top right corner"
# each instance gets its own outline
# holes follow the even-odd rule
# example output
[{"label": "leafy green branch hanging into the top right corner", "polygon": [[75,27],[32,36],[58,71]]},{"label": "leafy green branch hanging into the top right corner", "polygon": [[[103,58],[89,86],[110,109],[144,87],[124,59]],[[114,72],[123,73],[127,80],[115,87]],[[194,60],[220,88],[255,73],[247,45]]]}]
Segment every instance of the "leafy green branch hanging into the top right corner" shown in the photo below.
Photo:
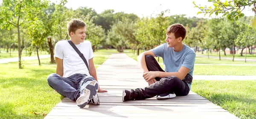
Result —
[{"label": "leafy green branch hanging into the top right corner", "polygon": [[[251,6],[256,3],[256,0],[225,0],[221,2],[220,0],[208,0],[208,2],[213,3],[213,8],[211,6],[201,6],[196,5],[195,8],[199,8],[201,11],[198,11],[198,14],[204,13],[204,16],[209,14],[209,17],[215,13],[217,16],[218,14],[223,14],[222,17],[226,16],[227,19],[230,21],[234,21],[239,19],[240,17],[244,17],[244,14],[241,11],[244,10],[246,6]],[[255,8],[252,8],[255,12]]]}]

